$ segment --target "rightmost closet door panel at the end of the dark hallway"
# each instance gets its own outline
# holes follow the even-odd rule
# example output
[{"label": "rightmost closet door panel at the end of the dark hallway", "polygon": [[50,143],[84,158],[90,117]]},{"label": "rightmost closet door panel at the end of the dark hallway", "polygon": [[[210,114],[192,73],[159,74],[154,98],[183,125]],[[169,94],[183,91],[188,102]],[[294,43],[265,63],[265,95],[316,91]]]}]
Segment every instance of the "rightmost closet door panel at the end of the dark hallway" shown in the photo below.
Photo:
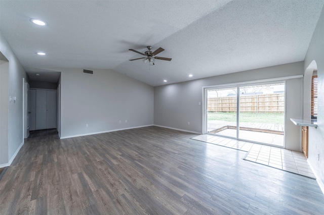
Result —
[{"label": "rightmost closet door panel at the end of the dark hallway", "polygon": [[57,105],[56,90],[47,90],[46,92],[46,128],[56,128]]}]

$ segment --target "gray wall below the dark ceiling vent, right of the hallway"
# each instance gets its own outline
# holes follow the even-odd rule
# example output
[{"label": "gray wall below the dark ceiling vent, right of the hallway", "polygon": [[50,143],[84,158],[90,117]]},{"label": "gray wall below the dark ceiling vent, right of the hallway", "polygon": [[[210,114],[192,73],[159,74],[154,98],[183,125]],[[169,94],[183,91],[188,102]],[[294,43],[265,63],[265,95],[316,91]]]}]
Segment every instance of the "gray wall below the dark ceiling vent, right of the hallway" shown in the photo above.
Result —
[{"label": "gray wall below the dark ceiling vent, right of the hallway", "polygon": [[61,138],[153,124],[152,86],[112,70],[57,71],[62,72]]}]

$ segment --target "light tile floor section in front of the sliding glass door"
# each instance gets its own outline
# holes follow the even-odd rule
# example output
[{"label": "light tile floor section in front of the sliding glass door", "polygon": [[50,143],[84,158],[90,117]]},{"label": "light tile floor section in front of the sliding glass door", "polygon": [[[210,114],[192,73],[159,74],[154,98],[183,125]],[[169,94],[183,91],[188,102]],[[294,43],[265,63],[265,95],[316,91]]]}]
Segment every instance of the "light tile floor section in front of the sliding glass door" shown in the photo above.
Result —
[{"label": "light tile floor section in front of the sliding glass door", "polygon": [[219,137],[211,134],[199,135],[192,139],[247,151],[248,153],[244,158],[245,160],[315,179],[303,153],[298,151]]}]

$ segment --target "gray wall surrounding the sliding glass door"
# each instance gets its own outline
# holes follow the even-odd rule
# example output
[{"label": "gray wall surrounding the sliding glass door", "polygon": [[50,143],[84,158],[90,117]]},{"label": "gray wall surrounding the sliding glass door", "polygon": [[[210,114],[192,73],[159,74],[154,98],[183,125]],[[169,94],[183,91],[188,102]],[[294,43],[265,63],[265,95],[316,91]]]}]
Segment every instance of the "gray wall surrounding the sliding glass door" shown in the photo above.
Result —
[{"label": "gray wall surrounding the sliding glass door", "polygon": [[[297,62],[154,87],[154,125],[201,133],[203,106],[198,102],[203,103],[202,87],[302,75],[303,66]],[[300,129],[290,118],[302,114],[302,78],[287,80],[286,89],[286,147],[301,151]]]}]

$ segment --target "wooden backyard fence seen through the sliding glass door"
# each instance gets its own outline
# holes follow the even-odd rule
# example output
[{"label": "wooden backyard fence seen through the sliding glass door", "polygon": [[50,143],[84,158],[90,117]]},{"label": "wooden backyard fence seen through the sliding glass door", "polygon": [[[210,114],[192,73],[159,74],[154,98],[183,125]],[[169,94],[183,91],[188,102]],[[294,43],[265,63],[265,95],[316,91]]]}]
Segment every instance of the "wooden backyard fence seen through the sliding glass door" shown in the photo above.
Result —
[{"label": "wooden backyard fence seen through the sliding glass door", "polygon": [[[208,111],[236,112],[236,96],[208,99]],[[240,95],[240,112],[284,113],[285,93]]]}]

